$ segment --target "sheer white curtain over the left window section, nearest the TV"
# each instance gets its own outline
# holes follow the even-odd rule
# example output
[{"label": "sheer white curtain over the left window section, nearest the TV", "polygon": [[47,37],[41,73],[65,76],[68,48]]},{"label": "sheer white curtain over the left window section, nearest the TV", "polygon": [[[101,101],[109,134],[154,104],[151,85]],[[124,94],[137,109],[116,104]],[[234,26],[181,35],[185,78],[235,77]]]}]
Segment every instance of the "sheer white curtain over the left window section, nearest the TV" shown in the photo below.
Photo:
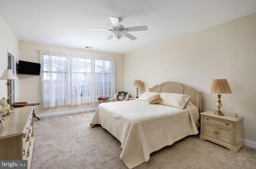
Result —
[{"label": "sheer white curtain over the left window section, nearest the TV", "polygon": [[44,108],[69,104],[68,55],[62,52],[40,51],[42,101]]}]

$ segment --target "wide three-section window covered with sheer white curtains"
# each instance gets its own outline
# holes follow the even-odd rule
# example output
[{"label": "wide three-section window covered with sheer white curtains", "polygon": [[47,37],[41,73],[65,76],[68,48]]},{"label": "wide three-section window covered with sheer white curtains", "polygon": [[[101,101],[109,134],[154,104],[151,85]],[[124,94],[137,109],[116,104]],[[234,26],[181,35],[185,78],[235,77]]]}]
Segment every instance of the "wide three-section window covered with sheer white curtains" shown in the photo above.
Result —
[{"label": "wide three-section window covered with sheer white curtains", "polygon": [[114,94],[114,58],[40,51],[44,107],[96,102]]}]

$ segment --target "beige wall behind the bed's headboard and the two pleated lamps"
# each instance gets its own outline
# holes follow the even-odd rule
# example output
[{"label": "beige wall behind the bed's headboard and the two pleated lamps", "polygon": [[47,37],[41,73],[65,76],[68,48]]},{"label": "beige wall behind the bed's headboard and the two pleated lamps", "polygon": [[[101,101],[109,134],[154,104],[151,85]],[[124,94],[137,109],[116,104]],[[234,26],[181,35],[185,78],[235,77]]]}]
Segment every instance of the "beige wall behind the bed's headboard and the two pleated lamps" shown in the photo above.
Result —
[{"label": "beige wall behind the bed's headboard and the two pleated lamps", "polygon": [[256,142],[256,13],[124,56],[124,90],[135,96],[166,81],[202,91],[202,109],[216,110],[212,79],[228,79],[233,94],[222,94],[222,112],[244,119],[244,138]]}]

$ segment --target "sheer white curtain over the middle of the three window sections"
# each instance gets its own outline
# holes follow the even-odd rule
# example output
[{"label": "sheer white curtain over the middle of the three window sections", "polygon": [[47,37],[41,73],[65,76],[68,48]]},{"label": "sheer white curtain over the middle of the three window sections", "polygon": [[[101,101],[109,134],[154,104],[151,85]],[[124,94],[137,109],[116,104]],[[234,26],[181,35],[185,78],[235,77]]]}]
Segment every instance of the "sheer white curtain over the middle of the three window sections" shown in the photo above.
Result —
[{"label": "sheer white curtain over the middle of the three window sections", "polygon": [[70,55],[70,96],[71,105],[93,102],[94,57]]}]

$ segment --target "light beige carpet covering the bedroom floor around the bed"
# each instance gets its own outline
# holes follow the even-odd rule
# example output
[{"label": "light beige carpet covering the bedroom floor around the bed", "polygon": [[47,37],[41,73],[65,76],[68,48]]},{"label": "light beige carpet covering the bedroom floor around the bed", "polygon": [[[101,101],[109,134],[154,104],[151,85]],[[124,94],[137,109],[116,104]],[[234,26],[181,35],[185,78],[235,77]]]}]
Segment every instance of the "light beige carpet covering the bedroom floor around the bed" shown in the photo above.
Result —
[{"label": "light beige carpet covering the bedroom floor around the bed", "polygon": [[[31,169],[126,169],[120,142],[101,126],[87,125],[94,112],[41,118],[34,121]],[[136,169],[255,169],[256,149],[239,153],[197,136],[188,136],[150,155]]]}]

